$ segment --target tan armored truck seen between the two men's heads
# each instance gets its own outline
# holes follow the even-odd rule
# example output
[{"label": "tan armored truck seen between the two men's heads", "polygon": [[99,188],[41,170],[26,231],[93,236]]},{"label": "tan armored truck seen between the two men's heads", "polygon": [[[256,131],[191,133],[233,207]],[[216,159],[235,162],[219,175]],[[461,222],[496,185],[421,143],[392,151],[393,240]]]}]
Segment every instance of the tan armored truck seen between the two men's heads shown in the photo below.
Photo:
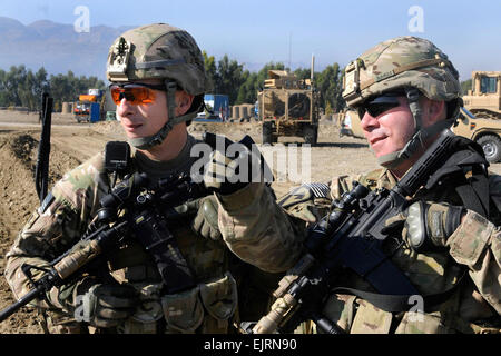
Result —
[{"label": "tan armored truck seen between the two men's heads", "polygon": [[258,116],[263,144],[278,141],[281,136],[298,136],[316,145],[318,137],[318,92],[312,78],[298,79],[284,70],[269,70],[264,89],[258,92]]}]

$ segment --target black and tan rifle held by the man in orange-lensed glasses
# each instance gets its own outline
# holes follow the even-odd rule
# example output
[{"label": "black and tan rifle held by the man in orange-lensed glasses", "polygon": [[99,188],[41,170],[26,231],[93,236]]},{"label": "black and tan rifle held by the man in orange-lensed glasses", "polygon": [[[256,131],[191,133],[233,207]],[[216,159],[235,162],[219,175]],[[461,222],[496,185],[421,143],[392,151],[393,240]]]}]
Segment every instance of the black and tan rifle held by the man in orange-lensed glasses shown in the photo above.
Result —
[{"label": "black and tan rifle held by the man in orange-lensed glasses", "polygon": [[[106,254],[122,246],[132,233],[154,231],[149,244],[144,246],[147,250],[154,249],[155,243],[167,246],[174,244],[173,235],[167,228],[170,220],[178,216],[174,207],[207,194],[205,186],[191,182],[188,175],[160,179],[155,185],[151,185],[145,174],[136,172],[127,177],[100,200],[102,208],[97,214],[97,220],[70,250],[51,261],[48,268],[28,264],[21,267],[33,289],[2,310],[0,322],[31,300],[43,298],[53,286],[61,286],[80,276],[98,257],[106,257]],[[118,216],[125,207],[125,215]],[[33,280],[33,270],[42,270],[45,274]]]}]

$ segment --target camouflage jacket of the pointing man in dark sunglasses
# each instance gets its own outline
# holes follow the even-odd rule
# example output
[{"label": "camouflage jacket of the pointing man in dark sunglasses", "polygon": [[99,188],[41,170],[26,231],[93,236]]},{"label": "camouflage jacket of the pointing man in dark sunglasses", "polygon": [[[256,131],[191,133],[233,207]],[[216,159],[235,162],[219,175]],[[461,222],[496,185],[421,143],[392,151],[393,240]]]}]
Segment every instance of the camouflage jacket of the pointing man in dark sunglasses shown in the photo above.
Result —
[{"label": "camouflage jacket of the pointing man in dark sunglasses", "polygon": [[[468,176],[468,172],[465,172]],[[314,194],[312,185],[304,185],[279,199],[258,192],[261,209],[243,211],[233,207],[219,210],[219,224],[226,239],[246,240],[247,237],[266,236],[275,241],[285,240],[284,235],[297,234],[305,238],[307,227],[328,212],[332,199],[338,199],[351,190],[354,180],[370,189],[392,188],[396,180],[390,171],[379,169],[366,175],[333,178],[327,195]],[[315,185],[315,184],[314,184]],[[482,333],[499,330],[501,314],[501,177],[489,176],[491,198],[490,220],[468,210],[463,222],[446,239],[448,249],[418,254],[406,244],[392,255],[392,261],[404,271],[410,281],[423,295],[440,294],[462,283],[445,303],[432,313],[387,313],[354,295],[330,296],[324,315],[348,333]],[[420,195],[420,192],[418,192]],[[438,185],[435,189],[420,195],[426,201],[463,205],[454,191],[454,185]],[[254,214],[253,214],[254,212]],[[281,237],[282,236],[282,237]],[[397,237],[402,241],[401,237]],[[395,239],[386,239],[386,250]],[[235,246],[238,247],[238,246]],[[297,251],[301,249],[298,248]],[[295,254],[297,256],[297,254]],[[464,270],[468,271],[464,275]],[[343,271],[340,287],[374,291],[358,275]],[[454,289],[453,289],[454,290]],[[492,324],[497,327],[490,328]]]}]

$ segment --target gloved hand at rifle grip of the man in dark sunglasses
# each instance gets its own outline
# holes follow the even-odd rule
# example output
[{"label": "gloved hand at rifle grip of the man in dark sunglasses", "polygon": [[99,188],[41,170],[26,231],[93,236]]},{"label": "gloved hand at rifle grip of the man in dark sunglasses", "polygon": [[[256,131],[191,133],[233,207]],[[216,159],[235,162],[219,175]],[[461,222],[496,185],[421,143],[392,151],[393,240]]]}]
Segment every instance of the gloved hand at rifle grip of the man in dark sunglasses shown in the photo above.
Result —
[{"label": "gloved hand at rifle grip of the man in dark sunglasses", "polygon": [[462,206],[446,202],[415,201],[404,212],[385,221],[384,234],[402,231],[402,237],[418,253],[445,247],[446,239],[461,224]]}]

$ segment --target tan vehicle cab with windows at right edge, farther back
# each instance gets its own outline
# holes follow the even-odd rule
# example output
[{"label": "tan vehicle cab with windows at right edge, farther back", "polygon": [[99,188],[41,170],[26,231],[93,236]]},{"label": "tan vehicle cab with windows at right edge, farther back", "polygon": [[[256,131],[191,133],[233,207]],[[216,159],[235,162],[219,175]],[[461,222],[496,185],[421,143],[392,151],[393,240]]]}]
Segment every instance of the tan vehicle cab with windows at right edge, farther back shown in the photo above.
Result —
[{"label": "tan vehicle cab with windows at right edge, farther back", "polygon": [[473,71],[464,107],[478,118],[501,119],[501,71]]}]

